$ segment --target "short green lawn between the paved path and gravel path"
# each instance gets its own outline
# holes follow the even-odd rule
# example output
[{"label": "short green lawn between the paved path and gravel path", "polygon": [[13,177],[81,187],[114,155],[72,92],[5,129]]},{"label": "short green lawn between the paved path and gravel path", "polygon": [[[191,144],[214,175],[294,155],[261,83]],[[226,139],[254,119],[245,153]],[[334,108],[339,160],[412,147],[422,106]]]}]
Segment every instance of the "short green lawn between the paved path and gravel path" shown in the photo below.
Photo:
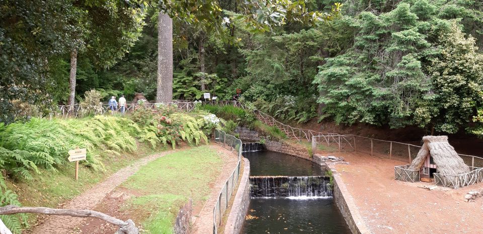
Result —
[{"label": "short green lawn between the paved path and gravel path", "polygon": [[193,199],[193,207],[210,195],[210,183],[221,172],[223,161],[209,146],[193,147],[158,158],[121,184],[138,196],[131,197],[124,210],[142,213],[136,223],[149,233],[172,233],[180,207]]}]

